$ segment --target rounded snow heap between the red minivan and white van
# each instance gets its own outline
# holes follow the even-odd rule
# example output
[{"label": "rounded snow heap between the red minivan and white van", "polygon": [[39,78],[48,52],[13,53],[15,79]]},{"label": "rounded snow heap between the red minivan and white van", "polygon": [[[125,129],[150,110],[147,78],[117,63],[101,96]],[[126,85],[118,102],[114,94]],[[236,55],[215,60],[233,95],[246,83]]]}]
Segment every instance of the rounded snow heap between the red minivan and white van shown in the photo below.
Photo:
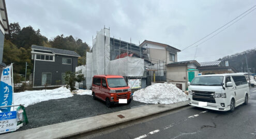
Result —
[{"label": "rounded snow heap between the red minivan and white van", "polygon": [[156,83],[135,91],[133,100],[144,103],[170,104],[188,100],[188,96],[171,83]]}]

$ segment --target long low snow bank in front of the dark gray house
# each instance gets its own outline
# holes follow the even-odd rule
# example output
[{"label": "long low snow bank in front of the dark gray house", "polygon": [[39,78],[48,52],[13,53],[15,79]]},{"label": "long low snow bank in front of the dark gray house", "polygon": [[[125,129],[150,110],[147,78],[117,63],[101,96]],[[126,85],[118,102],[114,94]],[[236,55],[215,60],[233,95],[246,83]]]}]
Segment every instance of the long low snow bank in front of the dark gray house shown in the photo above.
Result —
[{"label": "long low snow bank in front of the dark gray house", "polygon": [[13,93],[14,105],[24,104],[24,107],[34,105],[41,101],[72,97],[70,90],[62,86],[53,90],[25,91]]}]

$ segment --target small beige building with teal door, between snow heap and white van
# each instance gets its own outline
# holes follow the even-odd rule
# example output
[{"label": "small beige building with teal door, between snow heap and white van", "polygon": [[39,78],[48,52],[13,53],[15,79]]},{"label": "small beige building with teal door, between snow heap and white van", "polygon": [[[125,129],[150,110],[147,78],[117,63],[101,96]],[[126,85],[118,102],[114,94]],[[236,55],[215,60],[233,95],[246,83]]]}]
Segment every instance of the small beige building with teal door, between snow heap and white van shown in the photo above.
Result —
[{"label": "small beige building with teal door, between snow heap and white van", "polygon": [[190,81],[189,74],[198,76],[197,67],[200,64],[196,60],[173,62],[166,65],[167,81],[175,84],[182,91],[187,90],[187,82]]}]

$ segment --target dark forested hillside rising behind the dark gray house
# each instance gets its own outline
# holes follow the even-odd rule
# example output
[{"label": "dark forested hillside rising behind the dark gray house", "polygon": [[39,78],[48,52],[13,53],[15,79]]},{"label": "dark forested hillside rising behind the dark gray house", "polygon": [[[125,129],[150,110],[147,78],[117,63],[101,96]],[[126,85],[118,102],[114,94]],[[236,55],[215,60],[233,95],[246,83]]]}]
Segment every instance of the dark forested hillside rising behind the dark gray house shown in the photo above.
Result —
[{"label": "dark forested hillside rising behind the dark gray house", "polygon": [[10,23],[10,34],[6,34],[4,42],[3,62],[7,65],[13,64],[13,73],[25,75],[25,62],[28,63],[27,78],[32,73],[33,62],[31,60],[31,45],[46,46],[52,48],[76,51],[81,57],[78,64],[85,64],[86,51],[90,47],[86,42],[71,35],[65,37],[63,34],[49,40],[40,33],[40,29],[34,30],[32,26],[21,29],[19,23]]}]

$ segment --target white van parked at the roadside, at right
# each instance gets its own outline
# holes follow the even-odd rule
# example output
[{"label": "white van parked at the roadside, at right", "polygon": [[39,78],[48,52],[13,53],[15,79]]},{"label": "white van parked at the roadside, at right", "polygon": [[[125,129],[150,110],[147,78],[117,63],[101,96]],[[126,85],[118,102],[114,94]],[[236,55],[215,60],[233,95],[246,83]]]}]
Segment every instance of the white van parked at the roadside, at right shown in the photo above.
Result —
[{"label": "white van parked at the roadside, at right", "polygon": [[189,105],[210,110],[231,111],[249,98],[249,85],[243,74],[216,74],[195,77],[188,82]]}]

